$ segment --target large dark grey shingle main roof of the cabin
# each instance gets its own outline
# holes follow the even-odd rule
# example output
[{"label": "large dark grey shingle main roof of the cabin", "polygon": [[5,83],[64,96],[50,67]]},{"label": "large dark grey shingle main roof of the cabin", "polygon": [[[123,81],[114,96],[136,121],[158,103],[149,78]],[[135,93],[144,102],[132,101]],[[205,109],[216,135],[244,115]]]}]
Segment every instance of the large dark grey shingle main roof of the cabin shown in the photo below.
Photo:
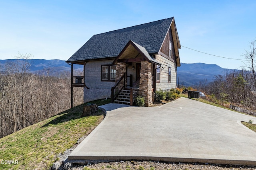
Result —
[{"label": "large dark grey shingle main roof of the cabin", "polygon": [[94,35],[66,62],[117,57],[129,40],[149,54],[157,53],[172,20],[173,17]]}]

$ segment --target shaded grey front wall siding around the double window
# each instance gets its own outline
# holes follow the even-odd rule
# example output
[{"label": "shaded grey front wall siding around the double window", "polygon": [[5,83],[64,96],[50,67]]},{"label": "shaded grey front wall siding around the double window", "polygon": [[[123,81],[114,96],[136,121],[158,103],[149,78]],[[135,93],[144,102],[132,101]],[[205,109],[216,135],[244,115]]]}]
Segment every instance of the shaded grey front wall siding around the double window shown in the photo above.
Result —
[{"label": "shaded grey front wall siding around the double window", "polygon": [[102,98],[110,98],[115,82],[101,81],[101,65],[112,64],[114,60],[89,61],[85,66],[84,103]]}]

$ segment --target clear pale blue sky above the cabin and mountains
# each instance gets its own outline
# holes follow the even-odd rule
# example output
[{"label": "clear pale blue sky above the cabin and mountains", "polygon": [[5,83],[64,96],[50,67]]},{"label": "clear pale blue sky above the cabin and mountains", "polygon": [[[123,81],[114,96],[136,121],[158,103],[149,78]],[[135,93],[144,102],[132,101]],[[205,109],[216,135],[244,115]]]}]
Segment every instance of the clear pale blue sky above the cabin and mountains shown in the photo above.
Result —
[{"label": "clear pale blue sky above the cabin and mountains", "polygon": [[256,39],[255,0],[0,0],[0,59],[67,60],[94,34],[173,16],[181,63],[245,66],[204,53],[244,59]]}]

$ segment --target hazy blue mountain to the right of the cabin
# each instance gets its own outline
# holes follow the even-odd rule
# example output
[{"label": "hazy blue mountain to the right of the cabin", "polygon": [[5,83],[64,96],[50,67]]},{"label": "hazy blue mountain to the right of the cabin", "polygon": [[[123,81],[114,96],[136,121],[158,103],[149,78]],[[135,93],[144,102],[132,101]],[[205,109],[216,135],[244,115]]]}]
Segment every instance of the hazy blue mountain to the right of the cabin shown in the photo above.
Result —
[{"label": "hazy blue mountain to the right of the cabin", "polygon": [[214,80],[214,76],[224,73],[226,68],[221,68],[216,64],[204,64],[204,63],[193,63],[186,64],[181,63],[180,67],[177,67],[177,84],[178,77],[180,77],[180,85],[192,86],[199,84],[199,82],[211,82]]}]

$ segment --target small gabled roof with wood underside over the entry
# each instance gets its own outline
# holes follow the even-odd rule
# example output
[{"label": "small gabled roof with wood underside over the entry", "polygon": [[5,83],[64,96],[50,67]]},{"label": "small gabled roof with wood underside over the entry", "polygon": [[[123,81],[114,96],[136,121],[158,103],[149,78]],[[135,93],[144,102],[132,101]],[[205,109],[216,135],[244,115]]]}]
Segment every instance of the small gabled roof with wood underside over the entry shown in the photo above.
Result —
[{"label": "small gabled roof with wood underside over the entry", "polygon": [[122,49],[118,57],[113,61],[113,64],[116,64],[117,62],[132,63],[138,61],[148,61],[149,63],[161,65],[156,59],[148,54],[148,51],[146,51],[144,47],[132,40],[130,40],[124,49]]}]

